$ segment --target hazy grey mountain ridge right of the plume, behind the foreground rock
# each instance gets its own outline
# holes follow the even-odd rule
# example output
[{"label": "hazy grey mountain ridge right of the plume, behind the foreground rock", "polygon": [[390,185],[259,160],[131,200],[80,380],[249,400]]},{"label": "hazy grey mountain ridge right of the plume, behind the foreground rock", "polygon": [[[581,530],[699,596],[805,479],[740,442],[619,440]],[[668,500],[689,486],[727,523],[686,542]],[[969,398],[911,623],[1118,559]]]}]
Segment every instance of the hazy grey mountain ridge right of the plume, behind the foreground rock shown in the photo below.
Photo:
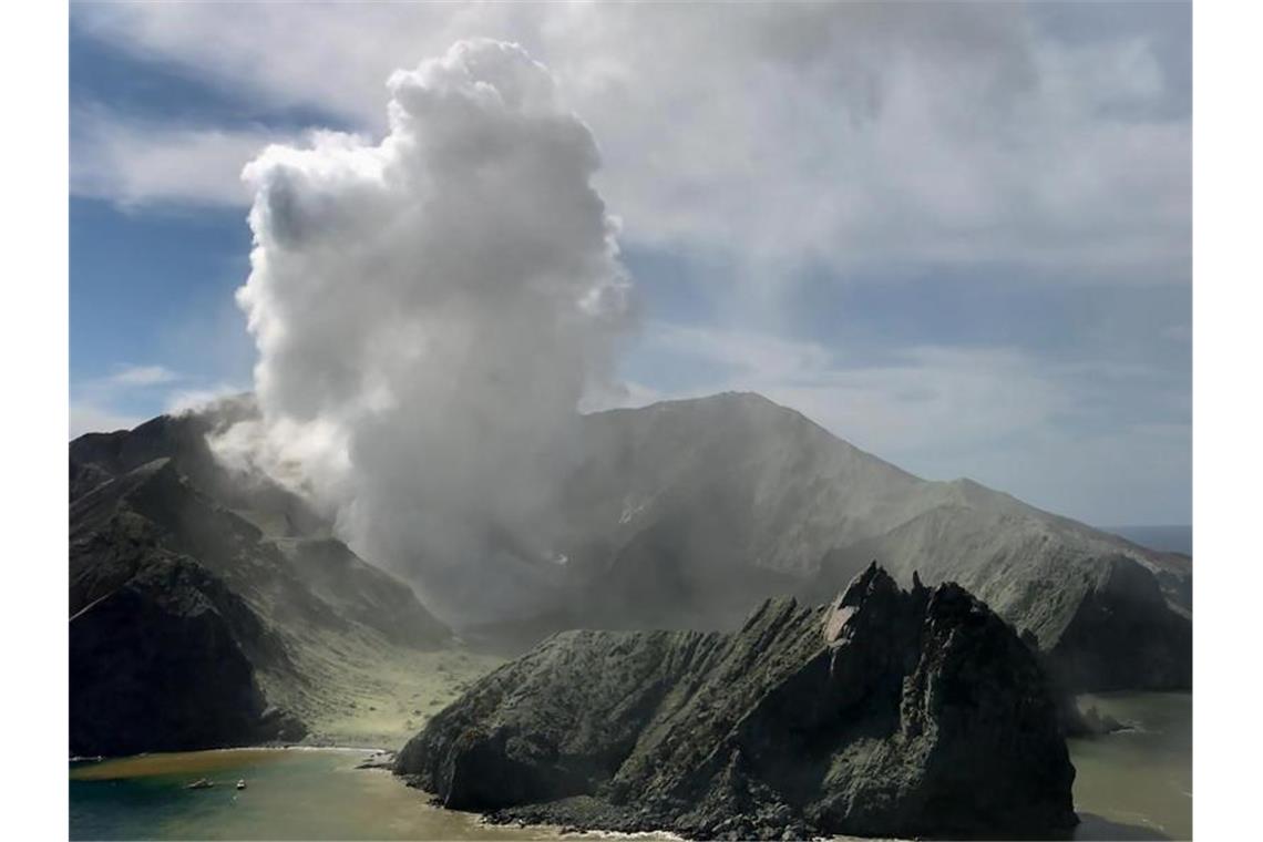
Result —
[{"label": "hazy grey mountain ridge right of the plume, behind the foreground rock", "polygon": [[[584,606],[561,612],[572,625],[731,627],[768,595],[827,598],[875,558],[904,584],[918,569],[969,587],[1031,630],[1077,687],[1191,680],[1186,557],[976,482],[921,480],[759,395],[584,420],[560,548],[563,602]],[[1100,610],[1081,611],[1089,601]],[[1138,664],[1081,656],[1098,635],[1140,629],[1157,643]]]}]

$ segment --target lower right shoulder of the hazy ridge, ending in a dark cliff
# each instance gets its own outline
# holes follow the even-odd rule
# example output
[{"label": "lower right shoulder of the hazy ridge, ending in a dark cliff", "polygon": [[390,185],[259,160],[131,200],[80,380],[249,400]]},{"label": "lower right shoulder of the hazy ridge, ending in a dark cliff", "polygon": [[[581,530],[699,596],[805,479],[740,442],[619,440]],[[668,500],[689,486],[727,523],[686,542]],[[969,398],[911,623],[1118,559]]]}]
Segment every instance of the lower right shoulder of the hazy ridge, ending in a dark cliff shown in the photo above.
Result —
[{"label": "lower right shoulder of the hazy ridge, ending in a dark cliff", "polygon": [[1163,579],[1176,581],[1191,595],[1191,577],[1124,542],[1022,509],[957,502],[930,509],[883,535],[831,550],[820,579],[827,588],[873,558],[889,559],[901,579],[919,567],[932,581],[960,582],[1034,635],[1067,687],[1191,687],[1191,615],[1161,588]]}]

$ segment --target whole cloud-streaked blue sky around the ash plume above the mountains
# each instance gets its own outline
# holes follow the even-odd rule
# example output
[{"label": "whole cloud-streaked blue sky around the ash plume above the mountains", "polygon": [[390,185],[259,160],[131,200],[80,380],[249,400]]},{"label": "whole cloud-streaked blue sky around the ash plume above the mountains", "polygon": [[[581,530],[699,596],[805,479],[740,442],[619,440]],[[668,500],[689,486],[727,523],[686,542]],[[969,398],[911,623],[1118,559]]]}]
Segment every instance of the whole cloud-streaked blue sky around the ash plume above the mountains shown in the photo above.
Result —
[{"label": "whole cloud-streaked blue sky around the ash plume above the mountains", "polygon": [[75,6],[72,432],[249,389],[241,167],[379,136],[392,69],[486,34],[601,148],[642,309],[609,403],[753,389],[922,476],[1187,523],[1187,6],[757,11],[653,43],[629,10]]}]

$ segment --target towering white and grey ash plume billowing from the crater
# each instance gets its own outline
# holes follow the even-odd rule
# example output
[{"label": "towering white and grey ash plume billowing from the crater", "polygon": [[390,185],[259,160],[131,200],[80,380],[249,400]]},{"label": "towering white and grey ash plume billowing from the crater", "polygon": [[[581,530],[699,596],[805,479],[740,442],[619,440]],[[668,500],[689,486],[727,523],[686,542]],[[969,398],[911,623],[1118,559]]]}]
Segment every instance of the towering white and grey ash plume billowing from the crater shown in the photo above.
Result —
[{"label": "towering white and grey ash plume billowing from the crater", "polygon": [[442,614],[525,614],[561,560],[576,405],[633,321],[597,146],[515,44],[457,43],[388,87],[380,143],[316,134],[245,168],[260,419],[217,447]]}]

